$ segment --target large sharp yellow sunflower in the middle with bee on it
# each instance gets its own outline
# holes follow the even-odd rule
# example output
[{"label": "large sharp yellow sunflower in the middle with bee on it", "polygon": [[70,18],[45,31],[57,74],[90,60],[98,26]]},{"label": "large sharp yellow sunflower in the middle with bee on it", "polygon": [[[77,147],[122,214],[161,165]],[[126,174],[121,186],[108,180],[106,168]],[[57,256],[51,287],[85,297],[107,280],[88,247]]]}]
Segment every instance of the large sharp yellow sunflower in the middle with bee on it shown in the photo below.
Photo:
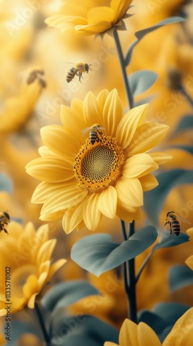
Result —
[{"label": "large sharp yellow sunflower in the middle with bee on it", "polygon": [[[124,115],[116,89],[97,97],[89,91],[85,100],[61,106],[63,126],[41,128],[42,157],[26,166],[28,174],[42,181],[32,196],[33,203],[43,203],[41,220],[63,216],[63,229],[70,233],[84,225],[96,230],[102,215],[140,219],[143,191],[158,185],[151,173],[171,157],[149,153],[168,127],[143,123],[147,113],[148,104],[143,104]],[[93,125],[99,126],[94,144]],[[88,129],[84,136],[83,129]]]}]

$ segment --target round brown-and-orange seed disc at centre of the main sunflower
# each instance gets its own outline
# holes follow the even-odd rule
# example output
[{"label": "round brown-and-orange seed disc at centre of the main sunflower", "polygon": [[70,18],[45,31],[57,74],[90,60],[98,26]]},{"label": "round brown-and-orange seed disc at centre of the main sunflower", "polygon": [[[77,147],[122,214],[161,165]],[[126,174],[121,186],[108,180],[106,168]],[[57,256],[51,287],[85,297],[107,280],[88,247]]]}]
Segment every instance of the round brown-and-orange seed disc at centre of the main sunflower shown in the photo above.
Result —
[{"label": "round brown-and-orange seed disc at centre of the main sunflower", "polygon": [[74,158],[74,175],[79,186],[90,192],[100,192],[114,185],[121,176],[125,162],[123,149],[117,145],[116,138],[99,134],[94,145],[85,141],[79,154]]}]

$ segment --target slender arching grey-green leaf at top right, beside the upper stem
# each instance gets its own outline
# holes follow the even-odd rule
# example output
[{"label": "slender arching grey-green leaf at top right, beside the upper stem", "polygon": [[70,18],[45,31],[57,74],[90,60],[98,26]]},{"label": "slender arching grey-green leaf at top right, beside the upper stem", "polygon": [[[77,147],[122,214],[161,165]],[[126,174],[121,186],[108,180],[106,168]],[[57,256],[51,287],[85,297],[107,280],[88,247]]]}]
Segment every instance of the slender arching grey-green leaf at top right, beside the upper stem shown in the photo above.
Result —
[{"label": "slender arching grey-green leaf at top right, beside the upper stem", "polygon": [[130,63],[134,47],[145,35],[147,35],[148,33],[151,33],[157,28],[160,28],[161,26],[178,23],[179,21],[184,21],[184,20],[185,19],[183,17],[170,17],[170,18],[164,19],[163,21],[160,21],[159,23],[155,24],[154,26],[151,26],[150,28],[146,28],[135,33],[134,35],[136,36],[136,40],[128,48],[128,52],[125,56],[125,66],[128,66],[128,64]]}]

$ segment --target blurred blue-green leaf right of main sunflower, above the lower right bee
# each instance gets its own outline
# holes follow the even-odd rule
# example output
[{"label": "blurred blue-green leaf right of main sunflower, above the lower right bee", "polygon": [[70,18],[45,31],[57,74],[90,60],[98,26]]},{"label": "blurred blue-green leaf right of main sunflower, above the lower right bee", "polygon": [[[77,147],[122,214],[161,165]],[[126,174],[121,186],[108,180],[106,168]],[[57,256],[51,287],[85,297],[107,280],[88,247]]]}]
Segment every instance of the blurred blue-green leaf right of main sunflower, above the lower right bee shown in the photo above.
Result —
[{"label": "blurred blue-green leaf right of main sunflower, above the lower right bee", "polygon": [[[144,193],[144,208],[152,222],[158,225],[159,213],[168,192],[176,185],[193,183],[193,170],[170,170],[157,175],[156,179],[159,181],[159,185]],[[174,207],[172,206],[172,208]],[[163,223],[165,223],[164,220]]]}]

